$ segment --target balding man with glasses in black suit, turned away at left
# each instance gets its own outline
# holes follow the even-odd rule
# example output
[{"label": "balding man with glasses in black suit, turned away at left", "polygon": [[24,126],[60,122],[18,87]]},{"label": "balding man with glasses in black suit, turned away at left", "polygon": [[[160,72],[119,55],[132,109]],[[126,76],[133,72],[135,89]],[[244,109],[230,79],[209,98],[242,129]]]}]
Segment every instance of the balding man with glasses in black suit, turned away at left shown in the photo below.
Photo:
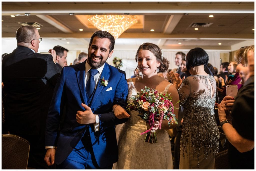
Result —
[{"label": "balding man with glasses in black suit, turned away at left", "polygon": [[6,93],[5,117],[10,134],[30,143],[28,167],[47,169],[45,123],[53,90],[59,76],[53,57],[39,54],[42,38],[32,26],[16,32],[17,48],[2,60],[2,82]]}]

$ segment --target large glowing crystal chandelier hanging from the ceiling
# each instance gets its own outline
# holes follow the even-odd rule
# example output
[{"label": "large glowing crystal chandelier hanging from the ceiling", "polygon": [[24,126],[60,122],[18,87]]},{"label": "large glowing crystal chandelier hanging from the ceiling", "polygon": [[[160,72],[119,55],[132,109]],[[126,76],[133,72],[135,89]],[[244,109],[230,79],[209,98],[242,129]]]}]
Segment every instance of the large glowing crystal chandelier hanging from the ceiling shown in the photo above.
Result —
[{"label": "large glowing crystal chandelier hanging from the ceiling", "polygon": [[97,29],[111,33],[115,39],[138,22],[133,15],[89,15],[88,21]]}]

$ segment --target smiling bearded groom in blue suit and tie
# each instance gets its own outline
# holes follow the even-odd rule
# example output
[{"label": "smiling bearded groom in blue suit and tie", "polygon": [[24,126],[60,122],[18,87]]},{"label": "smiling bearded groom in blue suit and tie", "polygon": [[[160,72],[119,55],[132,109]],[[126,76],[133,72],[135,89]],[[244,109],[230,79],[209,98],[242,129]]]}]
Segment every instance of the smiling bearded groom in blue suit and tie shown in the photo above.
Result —
[{"label": "smiling bearded groom in blue suit and tie", "polygon": [[46,122],[48,165],[112,169],[117,162],[115,125],[127,119],[116,118],[113,111],[126,107],[128,86],[125,72],[105,63],[113,54],[114,44],[110,33],[96,31],[89,43],[88,59],[63,68]]}]

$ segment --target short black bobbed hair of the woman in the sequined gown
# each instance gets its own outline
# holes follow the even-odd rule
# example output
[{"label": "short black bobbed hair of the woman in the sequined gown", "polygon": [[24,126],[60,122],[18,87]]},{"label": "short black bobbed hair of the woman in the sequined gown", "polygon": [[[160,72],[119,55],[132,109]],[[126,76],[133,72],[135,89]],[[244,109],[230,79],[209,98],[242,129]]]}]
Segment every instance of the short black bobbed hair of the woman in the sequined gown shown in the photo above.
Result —
[{"label": "short black bobbed hair of the woman in the sequined gown", "polygon": [[206,51],[200,47],[190,49],[186,57],[186,67],[190,70],[190,67],[208,64],[209,56]]}]

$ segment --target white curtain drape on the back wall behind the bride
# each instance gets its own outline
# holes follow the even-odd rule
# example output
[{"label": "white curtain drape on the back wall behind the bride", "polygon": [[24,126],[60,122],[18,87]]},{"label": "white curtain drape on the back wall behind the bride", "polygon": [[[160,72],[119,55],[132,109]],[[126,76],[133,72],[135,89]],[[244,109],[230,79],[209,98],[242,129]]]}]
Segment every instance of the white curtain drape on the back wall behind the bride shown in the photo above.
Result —
[{"label": "white curtain drape on the back wall behind the bride", "polygon": [[[167,50],[167,49],[162,49],[163,51],[163,55],[165,58],[167,58],[167,60],[170,61],[169,64],[169,69],[174,69],[177,68],[177,66],[175,65],[175,54],[178,52],[177,50]],[[189,50],[183,50],[182,52],[187,54]],[[220,68],[220,51],[216,50],[205,50],[209,56],[209,62],[210,64],[212,64],[212,66],[218,68]],[[113,64],[113,58],[114,57],[118,57],[122,59],[122,63],[123,63],[123,67],[121,67],[120,69],[125,71],[126,73],[126,78],[130,78],[132,75],[134,75],[134,70],[137,67],[137,63],[135,61],[135,55],[136,55],[136,50],[127,50],[127,51],[123,51],[123,50],[114,50],[112,57],[108,58],[108,60],[106,62],[108,62],[108,64],[114,66]]]}]

